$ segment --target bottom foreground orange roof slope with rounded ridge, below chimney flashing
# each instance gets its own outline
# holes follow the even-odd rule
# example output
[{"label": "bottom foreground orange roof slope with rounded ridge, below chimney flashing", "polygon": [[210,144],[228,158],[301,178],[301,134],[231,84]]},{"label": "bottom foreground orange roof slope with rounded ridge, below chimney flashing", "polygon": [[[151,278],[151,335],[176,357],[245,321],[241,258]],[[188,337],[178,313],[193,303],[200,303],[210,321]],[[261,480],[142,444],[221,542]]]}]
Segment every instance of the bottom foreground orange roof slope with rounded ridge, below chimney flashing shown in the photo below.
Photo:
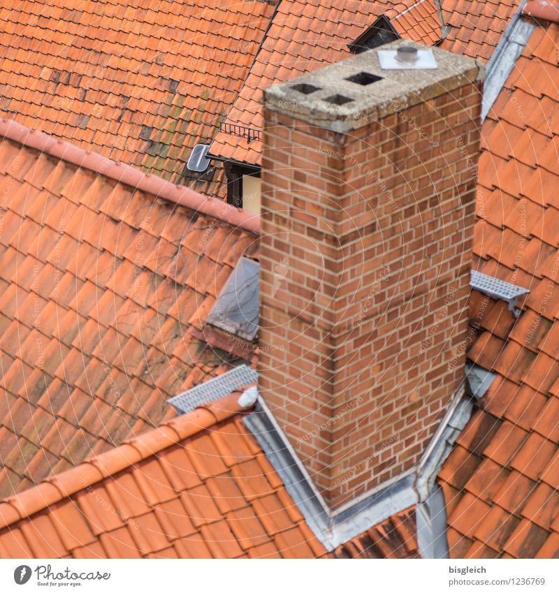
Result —
[{"label": "bottom foreground orange roof slope with rounded ridge, below chimney flashing", "polygon": [[[0,557],[328,555],[232,393],[0,502]],[[416,557],[413,509],[329,554]]]}]

